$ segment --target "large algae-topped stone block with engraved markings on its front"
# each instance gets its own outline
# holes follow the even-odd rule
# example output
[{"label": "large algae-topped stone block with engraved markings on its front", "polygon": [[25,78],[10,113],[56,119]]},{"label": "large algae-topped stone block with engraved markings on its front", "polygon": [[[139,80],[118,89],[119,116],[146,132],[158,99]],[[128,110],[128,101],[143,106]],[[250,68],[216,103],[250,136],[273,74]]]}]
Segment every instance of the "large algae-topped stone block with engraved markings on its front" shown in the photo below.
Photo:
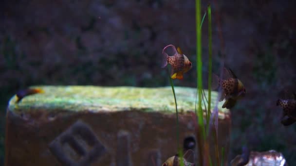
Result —
[{"label": "large algae-topped stone block with engraved markings on its front", "polygon": [[[7,166],[159,166],[176,153],[171,87],[35,87],[45,93],[9,102]],[[195,140],[196,118],[188,113],[195,110],[196,89],[175,87],[175,92],[183,145],[185,138]],[[212,92],[212,105],[216,98]],[[219,146],[224,147],[227,161],[230,112],[221,106]]]}]

